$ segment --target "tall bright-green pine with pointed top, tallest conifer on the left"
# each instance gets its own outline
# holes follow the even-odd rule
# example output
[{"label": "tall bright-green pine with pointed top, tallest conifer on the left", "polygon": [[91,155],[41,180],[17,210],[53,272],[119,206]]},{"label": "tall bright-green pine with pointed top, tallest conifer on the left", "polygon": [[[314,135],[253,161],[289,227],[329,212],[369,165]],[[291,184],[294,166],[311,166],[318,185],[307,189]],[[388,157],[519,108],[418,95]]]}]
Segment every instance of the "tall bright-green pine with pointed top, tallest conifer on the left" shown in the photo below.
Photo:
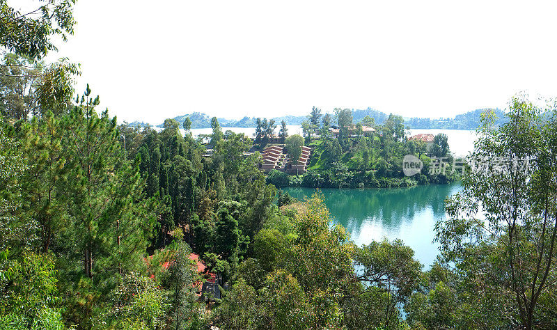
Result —
[{"label": "tall bright-green pine with pointed top, tallest conifer on the left", "polygon": [[74,220],[68,241],[74,258],[83,260],[84,275],[104,278],[137,267],[155,219],[148,203],[139,203],[145,182],[123,157],[116,118],[107,111],[98,116],[99,99],[90,94],[87,86],[81,104],[65,118],[65,146],[74,165],[66,184]]}]

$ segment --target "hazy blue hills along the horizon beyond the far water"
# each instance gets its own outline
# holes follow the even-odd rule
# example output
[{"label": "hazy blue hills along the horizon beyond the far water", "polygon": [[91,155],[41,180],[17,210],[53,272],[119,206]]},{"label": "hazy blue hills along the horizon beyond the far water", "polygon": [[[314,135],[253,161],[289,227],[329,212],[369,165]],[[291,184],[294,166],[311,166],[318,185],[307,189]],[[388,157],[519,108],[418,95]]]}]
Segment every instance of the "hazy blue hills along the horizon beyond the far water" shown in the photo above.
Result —
[{"label": "hazy blue hills along the horizon beyond the far water", "polygon": [[[405,125],[414,129],[476,129],[480,125],[481,113],[488,109],[476,109],[474,111],[469,111],[455,116],[455,118],[405,118]],[[501,125],[505,122],[505,112],[501,109],[491,109],[494,111],[497,119],[496,125]],[[352,109],[352,118],[354,123],[359,123],[364,117],[370,116],[375,119],[375,123],[382,124],[385,122],[389,115],[382,111],[378,111],[372,108],[368,109]],[[211,127],[211,117],[206,113],[194,112],[190,114],[185,114],[182,116],[177,116],[174,119],[180,123],[184,123],[184,120],[189,117],[191,120],[191,128],[210,128]],[[240,120],[228,119],[228,118],[218,118],[221,127],[256,127],[256,118],[244,117]],[[307,120],[307,116],[282,116],[275,117],[274,119],[276,125],[279,125],[282,120],[288,125],[301,125],[304,120]],[[137,124],[136,122],[130,123]],[[141,123],[143,124],[143,123]],[[157,127],[162,127],[157,125]]]}]

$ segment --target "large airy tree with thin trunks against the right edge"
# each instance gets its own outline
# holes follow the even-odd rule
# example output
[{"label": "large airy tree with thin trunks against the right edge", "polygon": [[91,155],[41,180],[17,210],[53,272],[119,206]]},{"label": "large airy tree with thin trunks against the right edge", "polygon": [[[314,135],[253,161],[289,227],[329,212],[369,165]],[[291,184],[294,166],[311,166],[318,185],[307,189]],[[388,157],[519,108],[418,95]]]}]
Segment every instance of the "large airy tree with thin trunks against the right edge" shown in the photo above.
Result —
[{"label": "large airy tree with thin trunks against the right edge", "polygon": [[498,316],[509,327],[554,327],[556,110],[548,105],[542,113],[514,97],[508,118],[500,128],[484,118],[463,191],[448,200],[437,240],[471,288],[485,297],[506,293],[501,305],[508,307]]}]

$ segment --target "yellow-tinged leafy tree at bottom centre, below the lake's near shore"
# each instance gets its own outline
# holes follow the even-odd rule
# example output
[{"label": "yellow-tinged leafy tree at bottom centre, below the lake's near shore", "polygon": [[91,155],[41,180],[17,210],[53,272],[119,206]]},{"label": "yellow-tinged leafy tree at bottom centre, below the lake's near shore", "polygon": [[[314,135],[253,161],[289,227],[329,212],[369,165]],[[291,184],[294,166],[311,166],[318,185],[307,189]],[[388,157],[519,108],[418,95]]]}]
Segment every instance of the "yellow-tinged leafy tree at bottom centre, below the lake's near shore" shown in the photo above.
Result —
[{"label": "yellow-tinged leafy tree at bottom centre, below the lake's near shore", "polygon": [[[340,301],[352,290],[352,244],[342,226],[329,227],[322,196],[304,202],[295,219],[297,238],[285,269],[311,300],[308,327],[340,327]],[[303,262],[301,262],[303,260]]]}]

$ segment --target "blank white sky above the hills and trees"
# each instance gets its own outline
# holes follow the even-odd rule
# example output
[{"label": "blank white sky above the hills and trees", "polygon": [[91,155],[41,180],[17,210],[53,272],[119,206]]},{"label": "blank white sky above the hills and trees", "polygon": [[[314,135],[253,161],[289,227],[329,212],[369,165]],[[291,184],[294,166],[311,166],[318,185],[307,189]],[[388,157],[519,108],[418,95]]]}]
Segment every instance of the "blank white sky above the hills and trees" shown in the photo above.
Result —
[{"label": "blank white sky above the hills and trees", "polygon": [[81,63],[78,91],[91,84],[119,120],[314,105],[437,118],[556,96],[556,13],[549,1],[79,0],[56,56]]}]

